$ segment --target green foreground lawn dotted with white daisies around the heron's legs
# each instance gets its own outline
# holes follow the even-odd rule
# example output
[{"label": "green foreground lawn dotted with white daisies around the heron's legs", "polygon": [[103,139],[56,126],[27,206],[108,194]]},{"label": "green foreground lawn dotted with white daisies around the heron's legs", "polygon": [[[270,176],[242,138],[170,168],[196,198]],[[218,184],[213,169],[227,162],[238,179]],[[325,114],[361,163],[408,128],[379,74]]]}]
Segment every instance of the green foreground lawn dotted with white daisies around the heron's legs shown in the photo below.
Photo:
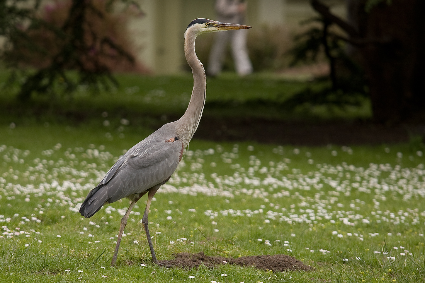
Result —
[{"label": "green foreground lawn dotted with white daisies around the heron's legs", "polygon": [[150,132],[2,123],[2,282],[424,281],[424,159],[408,145],[194,140],[151,205],[158,259],[201,251],[286,254],[314,269],[155,266],[140,222],[146,197],[130,215],[118,265],[110,267],[128,201],[91,219],[77,211],[123,150]]}]

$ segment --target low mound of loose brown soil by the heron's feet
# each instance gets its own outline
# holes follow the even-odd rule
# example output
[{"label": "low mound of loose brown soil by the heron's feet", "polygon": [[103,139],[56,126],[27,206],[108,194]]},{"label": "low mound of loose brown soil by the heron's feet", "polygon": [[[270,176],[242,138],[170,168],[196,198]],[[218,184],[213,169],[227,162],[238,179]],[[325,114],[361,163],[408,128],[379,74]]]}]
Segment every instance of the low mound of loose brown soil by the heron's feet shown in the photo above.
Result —
[{"label": "low mound of loose brown soil by the heron's feet", "polygon": [[254,266],[258,269],[272,270],[273,272],[284,270],[309,271],[312,269],[289,255],[252,255],[240,258],[224,258],[205,255],[204,252],[198,252],[197,254],[180,252],[174,254],[174,257],[175,259],[159,261],[159,263],[165,267],[182,267],[185,269],[199,267],[202,264],[208,268],[213,268],[217,264],[238,264],[240,266]]}]

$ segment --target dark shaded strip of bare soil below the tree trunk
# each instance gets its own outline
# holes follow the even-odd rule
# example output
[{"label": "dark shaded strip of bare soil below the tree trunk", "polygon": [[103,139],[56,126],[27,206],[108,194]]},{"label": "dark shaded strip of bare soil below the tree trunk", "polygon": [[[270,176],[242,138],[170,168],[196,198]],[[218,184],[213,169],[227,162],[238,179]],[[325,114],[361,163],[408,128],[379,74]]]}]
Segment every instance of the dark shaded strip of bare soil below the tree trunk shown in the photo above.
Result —
[{"label": "dark shaded strip of bare soil below the tree trunk", "polygon": [[362,121],[285,122],[261,118],[224,119],[204,116],[193,137],[217,142],[251,140],[294,146],[348,146],[406,143],[414,136],[421,136],[423,140],[423,123],[385,126]]}]

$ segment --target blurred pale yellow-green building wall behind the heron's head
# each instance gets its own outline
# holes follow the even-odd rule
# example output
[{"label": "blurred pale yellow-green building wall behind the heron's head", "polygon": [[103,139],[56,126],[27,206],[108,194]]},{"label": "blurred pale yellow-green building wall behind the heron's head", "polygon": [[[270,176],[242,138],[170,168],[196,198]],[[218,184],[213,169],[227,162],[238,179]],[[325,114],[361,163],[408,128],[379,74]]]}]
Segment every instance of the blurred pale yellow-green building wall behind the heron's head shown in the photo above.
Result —
[{"label": "blurred pale yellow-green building wall behind the heron's head", "polygon": [[[252,27],[286,25],[299,28],[299,22],[316,15],[305,0],[248,0],[247,23]],[[329,2],[335,14],[346,18],[345,1]],[[183,34],[196,18],[215,19],[213,0],[145,0],[139,2],[143,18],[133,19],[129,29],[139,47],[137,56],[155,74],[184,70]]]}]

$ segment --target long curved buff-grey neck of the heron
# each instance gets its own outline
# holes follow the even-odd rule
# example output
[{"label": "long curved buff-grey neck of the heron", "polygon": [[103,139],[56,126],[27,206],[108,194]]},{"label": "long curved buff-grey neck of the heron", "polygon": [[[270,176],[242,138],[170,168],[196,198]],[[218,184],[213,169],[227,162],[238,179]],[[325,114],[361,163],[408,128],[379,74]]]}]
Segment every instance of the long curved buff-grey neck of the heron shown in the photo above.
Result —
[{"label": "long curved buff-grey neck of the heron", "polygon": [[184,115],[177,121],[178,137],[184,146],[187,146],[193,134],[198,128],[204,110],[205,95],[207,91],[207,79],[205,77],[204,66],[195,53],[196,34],[191,34],[188,30],[184,36],[184,54],[193,74],[193,90],[190,102]]}]

